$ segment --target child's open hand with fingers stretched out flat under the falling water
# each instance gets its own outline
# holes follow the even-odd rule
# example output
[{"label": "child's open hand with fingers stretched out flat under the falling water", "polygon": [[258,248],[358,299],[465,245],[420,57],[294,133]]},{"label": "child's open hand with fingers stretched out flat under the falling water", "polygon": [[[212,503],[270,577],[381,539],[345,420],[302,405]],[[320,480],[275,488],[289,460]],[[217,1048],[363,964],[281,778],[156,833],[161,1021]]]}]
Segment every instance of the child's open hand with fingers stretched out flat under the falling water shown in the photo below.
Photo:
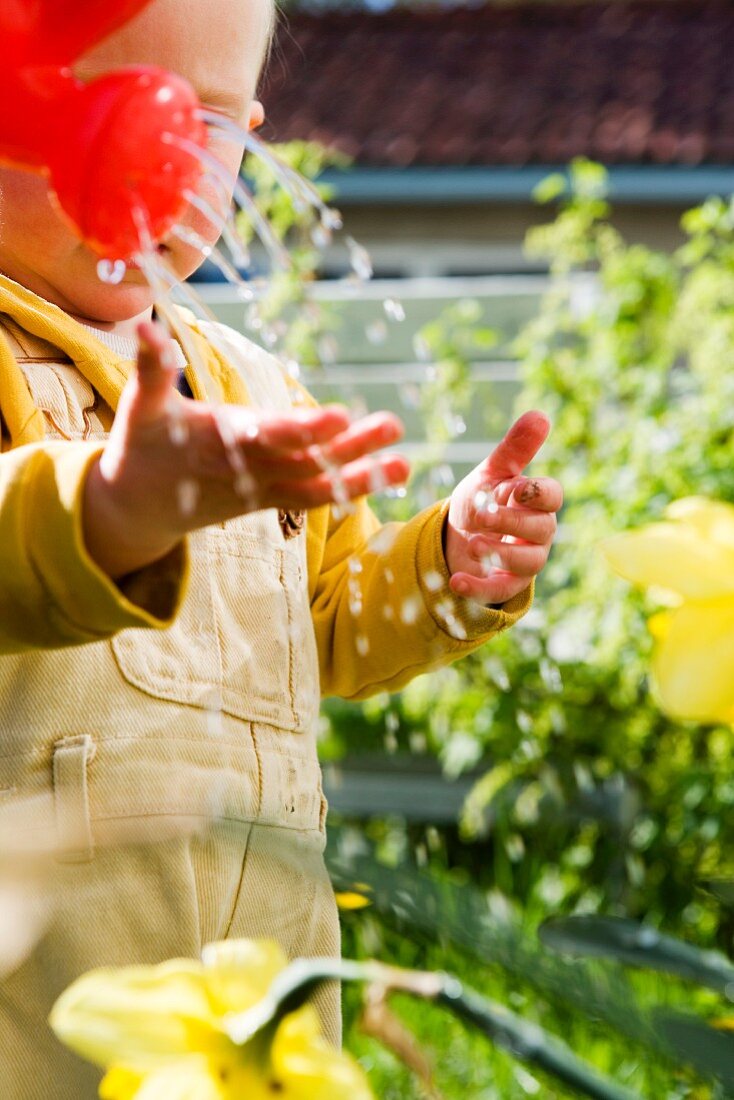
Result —
[{"label": "child's open hand with fingers stretched out flat under the falling water", "polygon": [[260,508],[342,502],[406,480],[405,459],[373,457],[403,433],[392,414],[350,424],[340,406],[262,414],[179,400],[165,332],[145,323],[139,334],[138,372],[85,494],[85,542],[110,576],[151,564],[199,527]]}]

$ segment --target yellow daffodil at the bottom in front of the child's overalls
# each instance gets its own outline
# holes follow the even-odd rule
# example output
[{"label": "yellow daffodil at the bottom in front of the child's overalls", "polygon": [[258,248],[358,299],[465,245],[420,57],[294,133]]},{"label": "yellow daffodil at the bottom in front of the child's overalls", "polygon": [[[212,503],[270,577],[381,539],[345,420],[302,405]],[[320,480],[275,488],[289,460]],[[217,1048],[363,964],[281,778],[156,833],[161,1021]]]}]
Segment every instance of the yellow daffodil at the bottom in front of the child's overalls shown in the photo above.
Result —
[{"label": "yellow daffodil at the bottom in front of the child's overalls", "polygon": [[228,1019],[258,1004],[287,960],[267,941],[210,944],[205,963],[92,970],[58,999],[51,1025],[108,1068],[102,1100],[370,1100],[360,1067],[321,1037],[310,1005],[269,1046],[234,1043]]}]

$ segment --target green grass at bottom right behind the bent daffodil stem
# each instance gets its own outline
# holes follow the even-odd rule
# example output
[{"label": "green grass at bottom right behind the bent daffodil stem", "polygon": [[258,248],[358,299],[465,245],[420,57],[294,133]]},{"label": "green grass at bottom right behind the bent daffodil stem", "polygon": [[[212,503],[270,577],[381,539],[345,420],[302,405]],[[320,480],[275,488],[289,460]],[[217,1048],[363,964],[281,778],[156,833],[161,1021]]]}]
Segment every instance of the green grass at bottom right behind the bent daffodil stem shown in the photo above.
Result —
[{"label": "green grass at bottom right behind the bent daffodil stem", "polygon": [[[370,911],[347,913],[342,921],[343,953],[355,958],[416,969],[447,970],[474,990],[499,1001],[528,1021],[540,1024],[566,1042],[598,1070],[613,1077],[640,1098],[650,1100],[713,1100],[715,1089],[686,1069],[635,1046],[611,1031],[590,1003],[585,1013],[562,1003],[549,1003],[517,983],[499,967],[479,963],[451,945],[430,943],[409,930],[399,931]],[[596,964],[603,972],[605,964]],[[607,967],[609,969],[609,967]],[[681,1011],[710,1012],[716,999],[682,982],[643,971],[629,972],[634,998],[640,1007],[665,1004]],[[417,1078],[385,1047],[360,1030],[362,993],[344,989],[344,1043],[368,1071],[381,1100],[423,1100],[429,1096]],[[478,1032],[467,1028],[446,1010],[406,996],[395,996],[391,1008],[415,1035],[434,1067],[434,1082],[445,1100],[521,1100],[571,1097],[563,1086],[524,1066]]]}]

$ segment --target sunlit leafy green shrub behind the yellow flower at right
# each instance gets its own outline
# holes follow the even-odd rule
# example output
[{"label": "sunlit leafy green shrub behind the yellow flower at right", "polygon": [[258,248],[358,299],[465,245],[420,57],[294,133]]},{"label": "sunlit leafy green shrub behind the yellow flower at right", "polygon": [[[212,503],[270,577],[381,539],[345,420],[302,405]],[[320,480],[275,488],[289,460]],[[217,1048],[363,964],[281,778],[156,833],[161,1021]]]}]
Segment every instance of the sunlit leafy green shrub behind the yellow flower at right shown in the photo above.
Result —
[{"label": "sunlit leafy green shrub behind the yellow flower at right", "polygon": [[[732,870],[733,735],[656,708],[655,606],[596,544],[681,496],[734,501],[734,207],[690,211],[688,241],[668,255],[620,237],[604,186],[588,162],[551,177],[538,197],[560,209],[527,242],[555,278],[516,344],[519,409],[550,415],[537,471],[566,490],[535,606],[399,697],[329,704],[326,747],[418,748],[453,776],[483,765],[462,822],[476,881],[539,913],[645,914],[728,947],[731,914],[697,883]],[[471,848],[449,840],[471,865]]]}]

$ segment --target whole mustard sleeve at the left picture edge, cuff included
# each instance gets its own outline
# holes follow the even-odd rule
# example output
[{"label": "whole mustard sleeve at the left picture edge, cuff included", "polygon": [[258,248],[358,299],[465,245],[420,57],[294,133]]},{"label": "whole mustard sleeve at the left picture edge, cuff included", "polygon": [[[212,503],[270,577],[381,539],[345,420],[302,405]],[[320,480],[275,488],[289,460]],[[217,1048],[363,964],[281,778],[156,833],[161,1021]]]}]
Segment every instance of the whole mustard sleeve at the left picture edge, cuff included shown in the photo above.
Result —
[{"label": "whole mustard sleeve at the left picture edge, cuff included", "polygon": [[165,628],[175,617],[185,546],[117,584],[86,551],[84,486],[101,450],[61,441],[0,455],[0,653],[78,646],[125,627]]}]

